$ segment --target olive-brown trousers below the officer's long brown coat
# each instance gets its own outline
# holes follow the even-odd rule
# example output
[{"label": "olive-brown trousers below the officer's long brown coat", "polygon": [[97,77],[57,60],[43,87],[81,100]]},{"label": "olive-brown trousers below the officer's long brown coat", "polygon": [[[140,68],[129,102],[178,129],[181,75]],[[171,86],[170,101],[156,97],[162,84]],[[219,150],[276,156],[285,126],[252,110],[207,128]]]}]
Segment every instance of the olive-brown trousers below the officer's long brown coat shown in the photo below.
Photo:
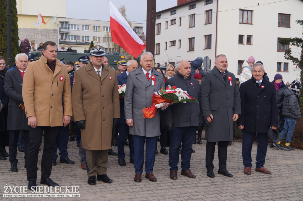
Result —
[{"label": "olive-brown trousers below the officer's long brown coat", "polygon": [[[97,166],[95,166],[95,154],[97,152]],[[108,167],[108,149],[85,149],[85,163],[88,177],[106,174]]]}]

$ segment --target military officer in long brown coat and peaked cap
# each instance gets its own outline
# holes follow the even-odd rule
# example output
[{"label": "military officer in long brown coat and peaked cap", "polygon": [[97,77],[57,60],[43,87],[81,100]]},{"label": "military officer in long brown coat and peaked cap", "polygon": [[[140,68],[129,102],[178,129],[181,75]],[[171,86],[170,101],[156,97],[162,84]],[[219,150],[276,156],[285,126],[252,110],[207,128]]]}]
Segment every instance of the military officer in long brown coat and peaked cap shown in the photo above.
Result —
[{"label": "military officer in long brown coat and peaked cap", "polygon": [[[81,128],[85,149],[87,183],[97,180],[111,183],[106,175],[112,129],[120,118],[120,103],[116,71],[103,63],[104,47],[89,49],[91,62],[74,73],[72,107],[77,126]],[[97,167],[95,152],[97,151]]]}]

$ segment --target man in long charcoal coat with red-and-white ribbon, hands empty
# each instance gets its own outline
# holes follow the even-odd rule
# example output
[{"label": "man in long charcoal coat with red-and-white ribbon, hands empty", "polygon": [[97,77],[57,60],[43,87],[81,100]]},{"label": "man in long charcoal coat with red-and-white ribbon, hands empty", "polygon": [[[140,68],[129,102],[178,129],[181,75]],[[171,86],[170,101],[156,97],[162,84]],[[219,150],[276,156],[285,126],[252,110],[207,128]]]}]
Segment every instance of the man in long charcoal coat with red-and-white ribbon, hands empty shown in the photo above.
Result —
[{"label": "man in long charcoal coat with red-and-white ribbon, hands empty", "polygon": [[208,177],[215,177],[213,172],[215,145],[218,142],[218,174],[232,177],[226,170],[228,141],[233,140],[233,121],[241,114],[240,93],[236,78],[228,72],[227,58],[220,54],[215,58],[215,67],[204,74],[201,81],[201,110],[206,123],[205,166]]}]

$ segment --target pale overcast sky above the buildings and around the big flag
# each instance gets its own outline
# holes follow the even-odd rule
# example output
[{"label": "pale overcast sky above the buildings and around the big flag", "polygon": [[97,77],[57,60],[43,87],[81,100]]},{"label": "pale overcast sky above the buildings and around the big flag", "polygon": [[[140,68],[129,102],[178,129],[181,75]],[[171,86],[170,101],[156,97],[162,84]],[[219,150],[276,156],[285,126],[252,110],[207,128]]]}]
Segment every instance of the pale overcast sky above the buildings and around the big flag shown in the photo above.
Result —
[{"label": "pale overcast sky above the buildings and around the big flag", "polygon": [[[146,33],[146,0],[111,0],[119,9],[125,5],[127,18],[133,23],[143,23]],[[67,18],[109,21],[109,4],[107,0],[67,0]],[[177,0],[158,0],[156,11],[177,5]]]}]

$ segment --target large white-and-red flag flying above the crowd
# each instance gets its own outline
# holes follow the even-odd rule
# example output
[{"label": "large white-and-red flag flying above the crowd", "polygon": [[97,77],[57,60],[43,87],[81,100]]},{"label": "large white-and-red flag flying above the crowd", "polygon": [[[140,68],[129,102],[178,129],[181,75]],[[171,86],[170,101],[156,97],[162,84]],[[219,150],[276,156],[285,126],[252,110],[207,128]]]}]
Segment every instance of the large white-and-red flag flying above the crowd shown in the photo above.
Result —
[{"label": "large white-and-red flag flying above the crowd", "polygon": [[146,45],[132,30],[115,5],[113,5],[109,0],[108,3],[111,18],[110,24],[112,41],[137,58],[142,53]]}]

